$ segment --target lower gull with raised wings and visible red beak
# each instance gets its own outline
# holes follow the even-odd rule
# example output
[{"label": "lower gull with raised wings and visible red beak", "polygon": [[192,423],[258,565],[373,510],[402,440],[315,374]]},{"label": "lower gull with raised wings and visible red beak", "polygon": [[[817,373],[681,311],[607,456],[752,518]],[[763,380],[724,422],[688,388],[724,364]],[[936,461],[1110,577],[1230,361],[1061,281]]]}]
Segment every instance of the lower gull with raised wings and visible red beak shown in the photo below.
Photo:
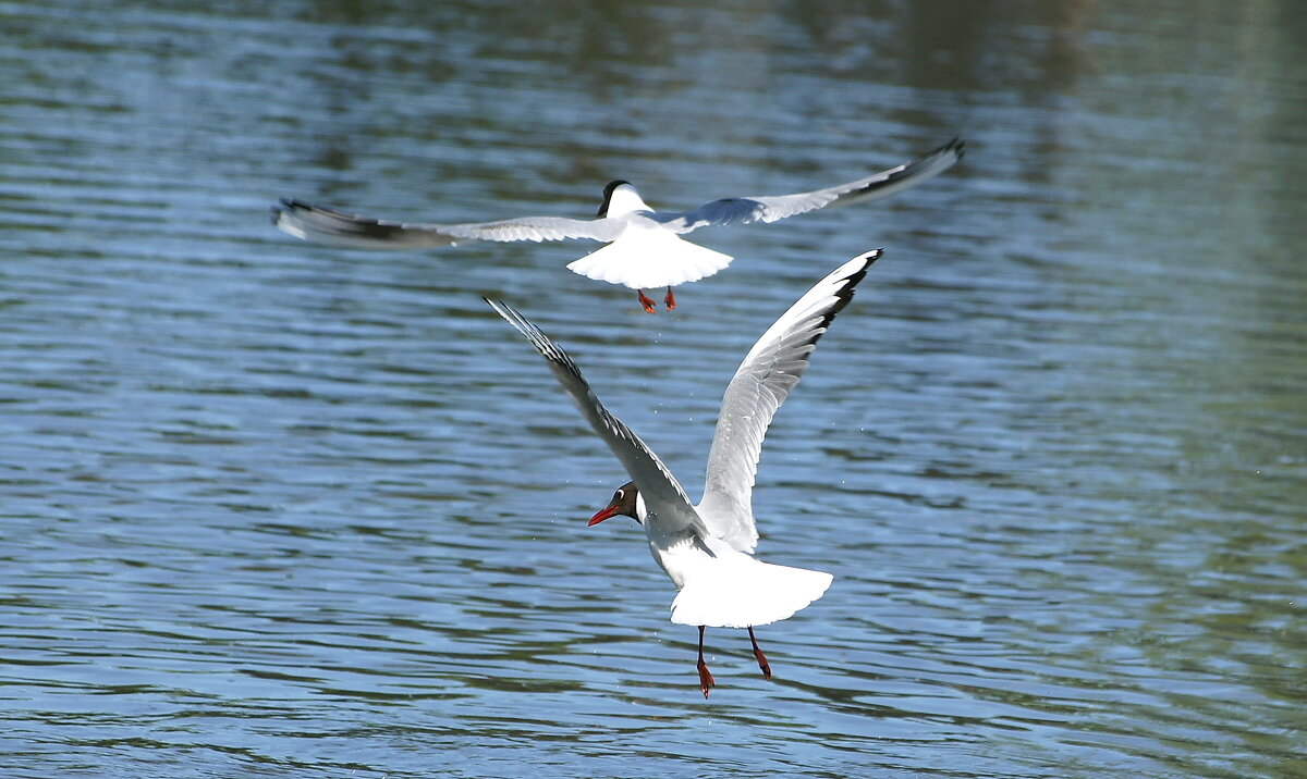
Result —
[{"label": "lower gull with raised wings and visible red beak", "polygon": [[699,629],[699,689],[715,685],[703,662],[706,628],[746,628],[763,679],[771,665],[753,629],[789,619],[826,592],[831,574],[762,562],[753,557],[758,530],[753,519],[753,479],[771,418],[808,368],[808,359],[831,320],[853,296],[881,249],[860,254],[817,282],[749,350],[721,398],[703,500],[698,505],[663,461],[608,412],[567,352],[527,317],[486,299],[499,316],[527,337],[549,361],[554,377],[599,437],[621,461],[631,480],[589,519],[589,526],[631,517],[644,527],[650,552],[680,592],[672,621]]}]

